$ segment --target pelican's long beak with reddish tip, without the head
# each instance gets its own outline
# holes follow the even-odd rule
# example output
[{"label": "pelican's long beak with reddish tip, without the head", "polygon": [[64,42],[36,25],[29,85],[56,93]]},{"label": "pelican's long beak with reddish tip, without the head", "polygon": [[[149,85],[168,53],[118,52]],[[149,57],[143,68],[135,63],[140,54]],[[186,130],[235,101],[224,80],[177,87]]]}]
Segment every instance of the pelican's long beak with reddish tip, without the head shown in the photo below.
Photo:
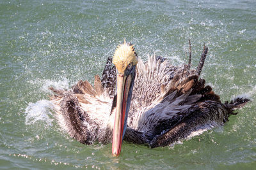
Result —
[{"label": "pelican's long beak with reddish tip, without the head", "polygon": [[[129,74],[118,74],[117,76],[117,93],[116,93],[116,113],[115,123],[113,129],[113,141],[112,141],[112,154],[118,156],[121,152],[122,139],[126,129],[126,122],[128,117],[129,103],[131,95],[129,96],[129,90],[132,82],[132,76]],[[129,97],[128,97],[129,96]]]}]

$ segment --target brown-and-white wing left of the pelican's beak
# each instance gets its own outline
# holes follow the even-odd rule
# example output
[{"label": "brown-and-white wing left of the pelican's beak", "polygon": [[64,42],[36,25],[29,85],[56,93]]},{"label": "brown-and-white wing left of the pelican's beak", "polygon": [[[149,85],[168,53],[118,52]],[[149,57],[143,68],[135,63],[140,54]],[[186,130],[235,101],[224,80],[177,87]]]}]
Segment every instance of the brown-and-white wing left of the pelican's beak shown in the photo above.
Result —
[{"label": "brown-and-white wing left of the pelican's beak", "polygon": [[55,104],[56,118],[68,134],[84,144],[94,141],[108,143],[111,136],[111,104],[108,91],[104,90],[99,76],[95,76],[94,87],[88,81],[79,81],[72,90],[55,90],[51,97]]}]

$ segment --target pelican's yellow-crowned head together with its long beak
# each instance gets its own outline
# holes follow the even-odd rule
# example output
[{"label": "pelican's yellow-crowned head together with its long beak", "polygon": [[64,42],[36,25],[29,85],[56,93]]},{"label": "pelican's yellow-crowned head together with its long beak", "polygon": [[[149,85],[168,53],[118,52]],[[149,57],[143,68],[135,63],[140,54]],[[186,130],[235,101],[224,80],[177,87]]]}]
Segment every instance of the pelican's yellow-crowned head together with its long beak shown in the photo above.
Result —
[{"label": "pelican's yellow-crowned head together with its long beak", "polygon": [[112,141],[113,156],[118,156],[121,152],[137,63],[138,57],[131,43],[124,41],[123,44],[117,46],[113,57],[113,64],[116,66],[116,113]]}]

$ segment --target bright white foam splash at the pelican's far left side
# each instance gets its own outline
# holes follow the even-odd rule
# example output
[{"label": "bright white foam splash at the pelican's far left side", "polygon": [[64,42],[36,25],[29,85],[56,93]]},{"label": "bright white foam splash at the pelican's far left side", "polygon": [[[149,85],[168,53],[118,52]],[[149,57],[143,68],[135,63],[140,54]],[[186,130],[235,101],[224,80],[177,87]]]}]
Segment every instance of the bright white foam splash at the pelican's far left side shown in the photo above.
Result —
[{"label": "bright white foam splash at the pelican's far left side", "polygon": [[54,109],[54,105],[51,101],[41,100],[36,103],[29,103],[25,110],[26,125],[35,124],[37,121],[44,121],[47,125],[52,125],[51,110]]}]

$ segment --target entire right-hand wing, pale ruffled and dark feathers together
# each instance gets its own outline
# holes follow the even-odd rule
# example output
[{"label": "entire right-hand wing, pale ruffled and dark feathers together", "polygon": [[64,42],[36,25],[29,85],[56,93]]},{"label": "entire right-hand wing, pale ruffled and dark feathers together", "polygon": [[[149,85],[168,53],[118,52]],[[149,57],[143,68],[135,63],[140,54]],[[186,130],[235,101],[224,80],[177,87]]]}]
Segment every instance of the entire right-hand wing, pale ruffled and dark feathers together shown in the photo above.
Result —
[{"label": "entire right-hand wing, pale ruffled and dark feathers together", "polygon": [[166,146],[228,120],[230,110],[198,78],[206,55],[204,46],[196,71],[189,69],[190,61],[182,67],[154,56],[138,62],[128,125],[143,132],[150,146]]}]

